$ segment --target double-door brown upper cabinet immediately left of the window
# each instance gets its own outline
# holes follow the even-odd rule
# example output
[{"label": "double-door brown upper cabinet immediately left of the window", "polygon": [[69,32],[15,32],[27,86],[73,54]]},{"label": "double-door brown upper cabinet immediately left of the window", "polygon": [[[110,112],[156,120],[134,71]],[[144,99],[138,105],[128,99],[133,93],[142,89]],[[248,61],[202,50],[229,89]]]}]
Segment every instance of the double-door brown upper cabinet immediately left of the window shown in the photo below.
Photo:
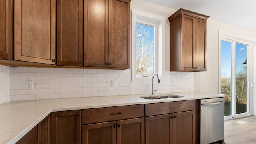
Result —
[{"label": "double-door brown upper cabinet immediately left of the window", "polygon": [[84,66],[130,68],[130,0],[84,1]]}]

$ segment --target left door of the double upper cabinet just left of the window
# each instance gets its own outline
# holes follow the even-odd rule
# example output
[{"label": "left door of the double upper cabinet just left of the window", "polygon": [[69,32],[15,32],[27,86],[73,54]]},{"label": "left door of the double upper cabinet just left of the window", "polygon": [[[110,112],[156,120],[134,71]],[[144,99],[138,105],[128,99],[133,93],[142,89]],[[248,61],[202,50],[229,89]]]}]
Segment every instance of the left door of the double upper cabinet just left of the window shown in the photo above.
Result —
[{"label": "left door of the double upper cabinet just left of the window", "polygon": [[84,66],[108,67],[108,0],[84,0]]}]

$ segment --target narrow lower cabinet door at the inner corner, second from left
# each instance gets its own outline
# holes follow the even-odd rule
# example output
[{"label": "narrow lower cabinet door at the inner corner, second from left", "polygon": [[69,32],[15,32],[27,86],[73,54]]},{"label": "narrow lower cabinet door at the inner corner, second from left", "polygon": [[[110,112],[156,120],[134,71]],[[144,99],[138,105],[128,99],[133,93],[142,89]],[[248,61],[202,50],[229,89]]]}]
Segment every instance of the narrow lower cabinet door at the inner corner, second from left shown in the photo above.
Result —
[{"label": "narrow lower cabinet door at the inner corner, second from left", "polygon": [[51,117],[48,115],[38,124],[38,144],[51,143]]}]

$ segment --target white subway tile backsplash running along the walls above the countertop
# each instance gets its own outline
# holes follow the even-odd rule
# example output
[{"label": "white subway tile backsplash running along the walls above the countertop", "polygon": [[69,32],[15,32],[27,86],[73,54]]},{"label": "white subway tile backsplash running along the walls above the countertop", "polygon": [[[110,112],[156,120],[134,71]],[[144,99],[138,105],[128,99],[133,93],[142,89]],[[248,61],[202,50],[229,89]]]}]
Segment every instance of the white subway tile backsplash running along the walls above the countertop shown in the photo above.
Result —
[{"label": "white subway tile backsplash running along the walls above the countertop", "polygon": [[[165,72],[158,93],[193,91],[192,72]],[[33,90],[26,90],[26,81]],[[111,80],[116,86],[111,87]],[[126,87],[126,80],[130,87]],[[176,80],[176,85],[172,85]],[[16,100],[43,100],[92,96],[151,94],[151,82],[131,82],[131,70],[30,68],[0,65],[0,104]]]}]

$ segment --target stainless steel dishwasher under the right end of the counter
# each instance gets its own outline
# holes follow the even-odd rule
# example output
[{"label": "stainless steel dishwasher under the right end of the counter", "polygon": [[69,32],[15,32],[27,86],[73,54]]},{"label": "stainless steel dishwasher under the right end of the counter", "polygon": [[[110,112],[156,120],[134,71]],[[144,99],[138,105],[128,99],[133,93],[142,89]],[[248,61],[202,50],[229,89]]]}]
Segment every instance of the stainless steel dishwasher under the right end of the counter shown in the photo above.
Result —
[{"label": "stainless steel dishwasher under the right end of the counter", "polygon": [[199,104],[201,144],[224,139],[224,98],[202,99]]}]

